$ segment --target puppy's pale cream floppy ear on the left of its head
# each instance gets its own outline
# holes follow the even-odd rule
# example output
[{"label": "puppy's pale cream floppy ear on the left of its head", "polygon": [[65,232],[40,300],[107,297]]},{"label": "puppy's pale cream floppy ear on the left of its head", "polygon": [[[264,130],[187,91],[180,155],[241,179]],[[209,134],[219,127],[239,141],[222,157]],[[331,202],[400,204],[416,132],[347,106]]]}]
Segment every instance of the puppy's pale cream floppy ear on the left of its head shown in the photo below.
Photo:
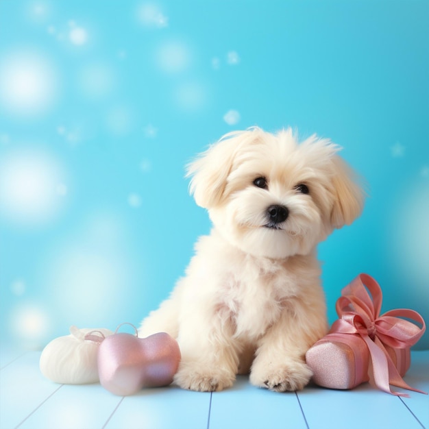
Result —
[{"label": "puppy's pale cream floppy ear on the left of its head", "polygon": [[189,190],[199,206],[212,208],[221,201],[234,162],[235,140],[234,137],[219,140],[188,164]]}]

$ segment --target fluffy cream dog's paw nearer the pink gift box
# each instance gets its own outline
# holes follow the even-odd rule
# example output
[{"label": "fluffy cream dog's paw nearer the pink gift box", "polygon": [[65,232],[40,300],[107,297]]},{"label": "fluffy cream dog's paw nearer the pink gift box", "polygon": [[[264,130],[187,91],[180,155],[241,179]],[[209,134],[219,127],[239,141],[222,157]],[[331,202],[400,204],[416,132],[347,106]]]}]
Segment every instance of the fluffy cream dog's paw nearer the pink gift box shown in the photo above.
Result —
[{"label": "fluffy cream dog's paw nearer the pink gift box", "polygon": [[275,392],[302,390],[310,381],[311,369],[304,362],[253,367],[250,382]]}]

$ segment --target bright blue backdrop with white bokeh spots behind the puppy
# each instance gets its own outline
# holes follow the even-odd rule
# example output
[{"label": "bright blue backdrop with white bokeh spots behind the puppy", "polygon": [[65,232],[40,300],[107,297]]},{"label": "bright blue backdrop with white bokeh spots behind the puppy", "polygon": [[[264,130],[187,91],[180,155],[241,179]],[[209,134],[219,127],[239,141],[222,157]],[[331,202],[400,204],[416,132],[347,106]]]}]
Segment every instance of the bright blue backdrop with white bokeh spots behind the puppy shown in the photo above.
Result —
[{"label": "bright blue backdrop with white bokeh spots behind the puppy", "polygon": [[330,322],[360,272],[428,320],[428,4],[0,0],[1,338],[138,325],[210,229],[184,165],[252,125],[367,182],[319,246]]}]

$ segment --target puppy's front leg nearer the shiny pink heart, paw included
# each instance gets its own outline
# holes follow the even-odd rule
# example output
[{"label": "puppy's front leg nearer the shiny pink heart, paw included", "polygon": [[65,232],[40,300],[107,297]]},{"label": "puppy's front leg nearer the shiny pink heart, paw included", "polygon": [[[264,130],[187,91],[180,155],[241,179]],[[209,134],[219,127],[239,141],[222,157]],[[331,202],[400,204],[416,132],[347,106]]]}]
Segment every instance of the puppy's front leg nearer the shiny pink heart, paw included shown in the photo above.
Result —
[{"label": "puppy's front leg nearer the shiny pink heart, paw included", "polygon": [[182,360],[174,381],[183,389],[221,391],[231,387],[238,371],[238,350],[228,321],[214,312],[186,317],[177,341]]}]

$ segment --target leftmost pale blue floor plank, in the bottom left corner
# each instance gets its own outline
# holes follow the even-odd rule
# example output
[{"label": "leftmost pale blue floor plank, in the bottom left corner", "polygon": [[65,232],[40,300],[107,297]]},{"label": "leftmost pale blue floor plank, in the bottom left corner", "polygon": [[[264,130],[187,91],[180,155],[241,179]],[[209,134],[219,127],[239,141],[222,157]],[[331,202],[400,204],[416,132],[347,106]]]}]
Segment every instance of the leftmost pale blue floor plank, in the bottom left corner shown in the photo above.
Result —
[{"label": "leftmost pale blue floor plank, in the bottom left corner", "polygon": [[15,428],[60,384],[50,382],[40,373],[40,352],[28,352],[0,371],[0,427]]}]

